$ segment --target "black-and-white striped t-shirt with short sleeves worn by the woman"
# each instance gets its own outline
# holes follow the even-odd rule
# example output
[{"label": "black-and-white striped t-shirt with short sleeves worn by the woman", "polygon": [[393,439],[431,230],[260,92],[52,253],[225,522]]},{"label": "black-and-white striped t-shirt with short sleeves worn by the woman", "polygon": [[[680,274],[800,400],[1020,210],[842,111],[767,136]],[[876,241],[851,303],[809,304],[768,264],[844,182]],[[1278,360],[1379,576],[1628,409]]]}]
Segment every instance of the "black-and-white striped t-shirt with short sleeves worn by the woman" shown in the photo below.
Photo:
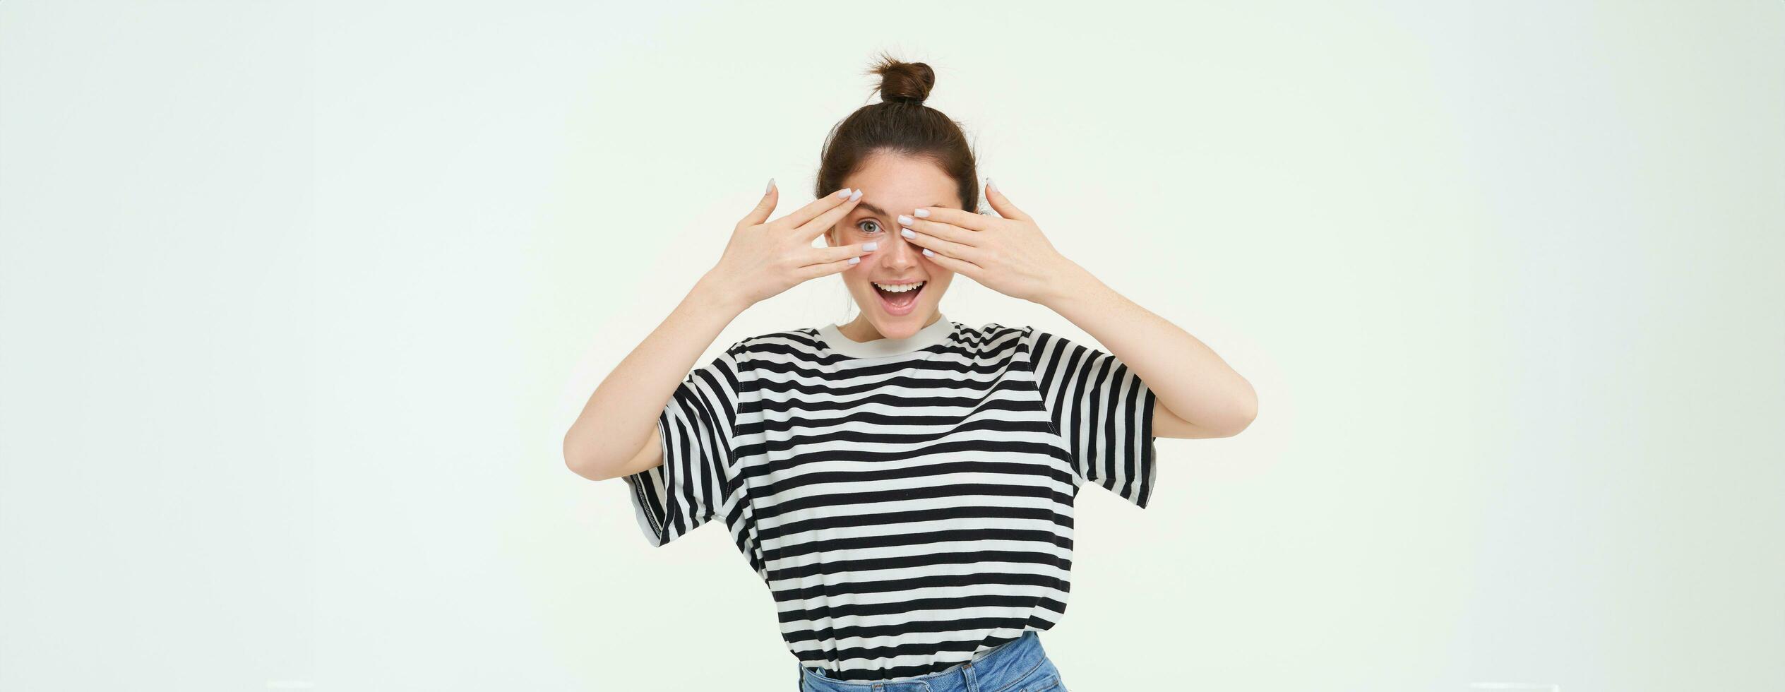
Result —
[{"label": "black-and-white striped t-shirt with short sleeves worn by the woman", "polygon": [[1060,621],[1080,485],[1153,492],[1153,400],[1032,326],[796,328],[689,373],[625,478],[652,546],[723,519],[801,665],[892,681]]}]

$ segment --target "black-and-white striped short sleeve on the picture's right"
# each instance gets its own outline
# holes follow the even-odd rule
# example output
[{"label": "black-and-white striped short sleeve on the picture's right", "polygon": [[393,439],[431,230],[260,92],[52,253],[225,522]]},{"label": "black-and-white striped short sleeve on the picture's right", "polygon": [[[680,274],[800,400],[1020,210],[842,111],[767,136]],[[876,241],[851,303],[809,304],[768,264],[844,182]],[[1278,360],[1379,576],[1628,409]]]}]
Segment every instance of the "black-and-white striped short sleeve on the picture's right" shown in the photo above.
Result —
[{"label": "black-and-white striped short sleeve on the picture's right", "polygon": [[1073,471],[1146,507],[1158,467],[1153,455],[1153,391],[1116,355],[1025,328],[1035,385]]}]

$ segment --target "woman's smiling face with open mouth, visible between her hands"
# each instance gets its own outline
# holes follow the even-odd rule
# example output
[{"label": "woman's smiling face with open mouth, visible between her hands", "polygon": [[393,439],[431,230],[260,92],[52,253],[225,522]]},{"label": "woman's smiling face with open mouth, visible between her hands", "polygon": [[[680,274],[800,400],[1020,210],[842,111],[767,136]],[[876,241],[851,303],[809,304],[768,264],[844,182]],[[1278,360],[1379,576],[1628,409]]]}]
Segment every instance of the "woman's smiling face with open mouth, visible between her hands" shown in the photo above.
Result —
[{"label": "woman's smiling face with open mouth, visible between her hands", "polygon": [[[955,273],[932,262],[923,255],[923,248],[900,235],[905,227],[898,223],[898,216],[912,216],[910,212],[919,207],[960,209],[955,180],[928,159],[876,153],[844,178],[843,187],[860,189],[862,198],[850,216],[825,234],[826,243],[830,246],[880,243],[875,251],[862,255],[860,264],[843,271],[843,284],[850,287],[862,312],[851,323],[855,334],[844,330],[844,335],[859,341],[876,339],[862,328],[866,319],[878,337],[909,337],[934,319]],[[916,291],[887,292],[876,287],[876,282],[921,285]]]}]

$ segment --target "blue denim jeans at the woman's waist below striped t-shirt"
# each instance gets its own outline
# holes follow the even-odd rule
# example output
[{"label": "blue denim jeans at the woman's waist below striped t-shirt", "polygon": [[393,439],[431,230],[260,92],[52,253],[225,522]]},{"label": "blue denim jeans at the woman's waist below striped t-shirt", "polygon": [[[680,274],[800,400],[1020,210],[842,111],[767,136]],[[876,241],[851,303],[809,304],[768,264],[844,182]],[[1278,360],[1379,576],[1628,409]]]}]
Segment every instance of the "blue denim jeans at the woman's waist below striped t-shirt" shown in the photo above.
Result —
[{"label": "blue denim jeans at the woman's waist below striped t-shirt", "polygon": [[800,692],[1067,692],[1060,669],[1041,649],[1035,630],[998,644],[978,658],[896,683],[846,683],[800,663]]}]

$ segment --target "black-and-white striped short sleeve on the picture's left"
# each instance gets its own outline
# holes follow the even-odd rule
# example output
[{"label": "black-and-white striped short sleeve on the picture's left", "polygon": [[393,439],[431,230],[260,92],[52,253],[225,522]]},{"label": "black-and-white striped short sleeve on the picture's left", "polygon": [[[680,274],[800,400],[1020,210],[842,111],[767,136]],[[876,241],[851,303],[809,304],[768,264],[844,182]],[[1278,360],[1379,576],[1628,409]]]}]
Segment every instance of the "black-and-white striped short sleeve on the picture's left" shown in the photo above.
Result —
[{"label": "black-and-white striped short sleeve on the picture's left", "polygon": [[743,357],[743,342],[732,344],[677,385],[657,416],[664,462],[625,476],[652,548],[728,514],[741,501],[732,439]]}]

